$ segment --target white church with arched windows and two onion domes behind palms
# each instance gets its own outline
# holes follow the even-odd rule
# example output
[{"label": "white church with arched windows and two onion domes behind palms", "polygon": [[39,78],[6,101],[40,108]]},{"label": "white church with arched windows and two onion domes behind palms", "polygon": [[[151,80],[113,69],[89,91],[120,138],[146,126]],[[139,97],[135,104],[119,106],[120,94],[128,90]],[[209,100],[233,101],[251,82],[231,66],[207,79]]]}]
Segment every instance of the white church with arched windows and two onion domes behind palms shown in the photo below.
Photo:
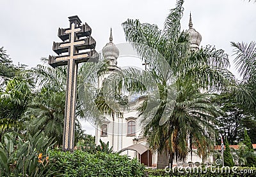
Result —
[{"label": "white church with arched windows and two onion domes behind palms", "polygon": [[[199,48],[202,36],[199,32],[193,29],[191,17],[189,19],[189,36],[191,50],[197,50]],[[102,55],[109,61],[108,73],[99,77],[99,87],[102,85],[104,78],[107,78],[111,72],[115,72],[120,69],[116,66],[119,55],[119,50],[113,43],[112,32],[110,34],[109,43],[102,49]],[[143,138],[143,130],[141,128],[141,120],[137,111],[138,106],[143,103],[145,96],[129,98],[129,110],[125,110],[122,113],[122,117],[113,115],[112,117],[106,117],[102,121],[101,125],[97,125],[95,129],[95,141],[96,145],[100,145],[100,139],[104,143],[108,143],[113,146],[114,152],[121,152],[122,155],[128,155],[131,158],[137,158],[147,167],[157,167],[159,161],[164,161],[163,166],[168,165],[168,159],[166,155],[157,155],[157,152],[152,152],[148,149],[147,139]],[[196,149],[193,148],[193,162],[202,163],[202,159],[196,155]],[[157,162],[158,160],[158,162]],[[207,158],[206,162],[213,162],[213,157]],[[190,153],[186,159],[186,162],[191,162]],[[167,164],[166,164],[167,163]],[[177,162],[173,162],[173,164]],[[181,163],[181,162],[178,162]],[[160,165],[159,165],[160,166]],[[161,167],[163,167],[161,166]]]}]

